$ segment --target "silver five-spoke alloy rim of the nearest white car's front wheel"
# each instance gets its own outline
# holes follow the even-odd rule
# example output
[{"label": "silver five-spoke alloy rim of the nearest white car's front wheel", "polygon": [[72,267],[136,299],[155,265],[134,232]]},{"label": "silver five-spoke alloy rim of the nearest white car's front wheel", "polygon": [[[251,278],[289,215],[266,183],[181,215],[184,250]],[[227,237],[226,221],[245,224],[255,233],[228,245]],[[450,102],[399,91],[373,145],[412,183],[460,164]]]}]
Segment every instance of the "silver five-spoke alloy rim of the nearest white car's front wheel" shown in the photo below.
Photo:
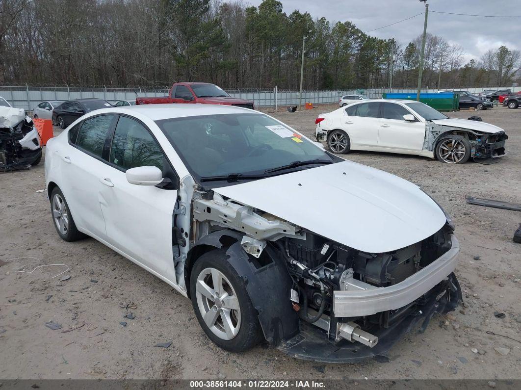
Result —
[{"label": "silver five-spoke alloy rim of the nearest white car's front wheel", "polygon": [[217,337],[231,340],[241,327],[239,299],[230,281],[215,268],[205,268],[197,276],[197,307],[203,321]]}]

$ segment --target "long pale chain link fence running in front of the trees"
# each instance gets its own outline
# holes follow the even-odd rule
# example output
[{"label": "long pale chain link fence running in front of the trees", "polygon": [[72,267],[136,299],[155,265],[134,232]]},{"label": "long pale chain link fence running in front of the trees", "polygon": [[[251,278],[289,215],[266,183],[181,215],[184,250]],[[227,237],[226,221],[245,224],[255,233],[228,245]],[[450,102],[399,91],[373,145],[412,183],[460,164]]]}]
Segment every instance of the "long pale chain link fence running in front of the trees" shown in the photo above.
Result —
[{"label": "long pale chain link fence running in front of the trees", "polygon": [[[134,87],[107,87],[105,85],[73,86],[73,85],[0,85],[0,96],[13,107],[31,111],[36,105],[45,101],[72,100],[81,98],[100,98],[109,103],[118,100],[135,100],[136,97],[167,96],[170,86],[134,86]],[[483,87],[461,88],[453,90],[469,91],[479,94],[483,90],[510,89],[512,92],[521,91],[521,87]],[[274,89],[225,89],[233,97],[252,100],[255,107],[288,107],[298,105],[301,101],[299,91]],[[437,92],[436,89],[422,89],[421,92]],[[416,89],[356,89],[356,90],[328,90],[303,91],[302,104],[308,102],[313,105],[336,103],[345,95],[363,94],[370,98],[381,98],[383,93],[416,93]]]}]

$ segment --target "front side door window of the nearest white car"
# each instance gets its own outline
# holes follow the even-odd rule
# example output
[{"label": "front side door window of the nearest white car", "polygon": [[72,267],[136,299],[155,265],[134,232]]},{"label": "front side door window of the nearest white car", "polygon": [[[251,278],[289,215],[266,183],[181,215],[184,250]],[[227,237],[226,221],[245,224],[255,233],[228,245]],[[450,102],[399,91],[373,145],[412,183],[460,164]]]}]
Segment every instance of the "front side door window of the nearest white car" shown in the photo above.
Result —
[{"label": "front side door window of the nearest white car", "polygon": [[163,171],[164,156],[157,142],[141,123],[119,117],[109,161],[123,170],[154,166]]}]

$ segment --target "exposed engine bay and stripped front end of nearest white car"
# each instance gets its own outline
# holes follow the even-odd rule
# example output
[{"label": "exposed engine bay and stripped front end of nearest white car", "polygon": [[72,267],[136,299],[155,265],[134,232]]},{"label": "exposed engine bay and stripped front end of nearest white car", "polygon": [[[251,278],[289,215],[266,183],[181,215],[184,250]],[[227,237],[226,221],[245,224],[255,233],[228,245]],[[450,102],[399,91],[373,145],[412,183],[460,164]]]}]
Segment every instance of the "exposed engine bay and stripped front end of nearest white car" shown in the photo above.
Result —
[{"label": "exposed engine bay and stripped front end of nearest white car", "polygon": [[[373,348],[375,354],[379,354],[389,349],[401,336],[387,337],[390,340],[386,340],[381,348],[375,348],[379,335],[405,333],[420,319],[424,320],[425,328],[435,312],[452,310],[461,301],[461,290],[451,268],[441,277],[438,274],[439,279],[419,294],[408,294],[406,300],[397,299],[399,302],[403,300],[402,306],[375,309],[364,315],[351,315],[349,309],[336,307],[336,295],[339,293],[383,292],[409,283],[413,279],[411,276],[418,272],[419,275],[431,263],[448,255],[453,241],[457,245],[457,254],[459,247],[449,223],[445,223],[435,234],[404,248],[388,253],[365,253],[296,227],[262,210],[225,199],[212,191],[202,194],[203,197],[193,202],[194,220],[200,222],[194,224],[192,233],[195,237],[211,235],[221,229],[233,229],[240,240],[238,243],[252,257],[251,261],[258,270],[274,261],[285,265],[291,287],[288,296],[282,299],[288,305],[287,310],[296,312],[301,320],[300,335],[293,337],[292,341],[284,341],[279,347],[290,355],[304,358],[306,350],[309,353],[306,343],[302,341],[306,339],[303,334],[310,329],[309,324],[311,328],[324,332],[323,337],[332,343],[358,342],[368,349],[366,357],[371,356],[369,350]],[[274,256],[278,259],[272,258]],[[369,298],[365,306],[371,305]],[[405,326],[405,323],[408,325]],[[308,334],[308,341],[310,337],[316,335]],[[340,349],[337,348],[337,354]],[[353,361],[354,357],[317,358],[313,353],[309,358]],[[362,359],[362,355],[358,358]]]}]

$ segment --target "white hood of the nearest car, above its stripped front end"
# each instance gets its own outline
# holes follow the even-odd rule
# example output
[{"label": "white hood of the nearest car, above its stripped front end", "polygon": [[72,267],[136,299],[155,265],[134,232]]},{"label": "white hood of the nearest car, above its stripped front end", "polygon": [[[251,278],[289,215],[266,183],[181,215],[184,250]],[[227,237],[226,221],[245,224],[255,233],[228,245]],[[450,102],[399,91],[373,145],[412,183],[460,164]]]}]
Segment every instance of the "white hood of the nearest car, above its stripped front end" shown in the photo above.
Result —
[{"label": "white hood of the nearest car, above its stripped front end", "polygon": [[368,253],[417,243],[446,221],[415,184],[351,161],[213,190]]}]

